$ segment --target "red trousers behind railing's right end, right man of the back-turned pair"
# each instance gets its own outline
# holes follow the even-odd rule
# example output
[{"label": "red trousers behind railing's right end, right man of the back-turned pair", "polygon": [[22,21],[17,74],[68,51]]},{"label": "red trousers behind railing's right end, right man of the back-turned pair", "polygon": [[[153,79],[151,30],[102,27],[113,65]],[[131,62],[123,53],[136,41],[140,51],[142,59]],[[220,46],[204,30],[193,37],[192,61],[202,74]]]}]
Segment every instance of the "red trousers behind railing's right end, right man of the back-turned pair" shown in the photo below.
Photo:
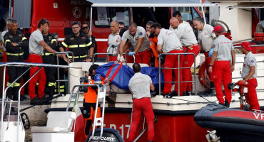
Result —
[{"label": "red trousers behind railing's right end, right man of the back-turned pair", "polygon": [[[199,45],[191,47],[193,49],[187,48],[186,53],[194,53],[196,56],[200,53],[200,47]],[[183,67],[191,67],[194,62],[194,56],[191,54],[186,55],[183,58]],[[186,91],[192,91],[193,82],[186,82],[186,81],[192,81],[193,77],[191,75],[191,69],[183,69],[183,92]]]}]

